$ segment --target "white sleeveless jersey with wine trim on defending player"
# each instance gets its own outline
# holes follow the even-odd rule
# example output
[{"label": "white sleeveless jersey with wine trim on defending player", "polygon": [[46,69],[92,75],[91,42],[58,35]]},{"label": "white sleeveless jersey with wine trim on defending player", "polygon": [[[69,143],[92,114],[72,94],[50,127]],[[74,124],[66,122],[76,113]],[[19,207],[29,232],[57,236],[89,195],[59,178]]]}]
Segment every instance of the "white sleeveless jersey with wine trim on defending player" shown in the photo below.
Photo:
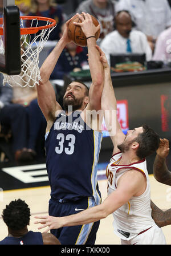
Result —
[{"label": "white sleeveless jersey with wine trim on defending player", "polygon": [[123,240],[129,240],[156,224],[151,216],[150,182],[146,160],[137,161],[130,165],[119,165],[121,157],[121,152],[116,153],[107,166],[108,195],[116,190],[117,181],[128,170],[135,169],[146,176],[145,192],[141,196],[131,197],[127,204],[113,212],[115,234]]}]

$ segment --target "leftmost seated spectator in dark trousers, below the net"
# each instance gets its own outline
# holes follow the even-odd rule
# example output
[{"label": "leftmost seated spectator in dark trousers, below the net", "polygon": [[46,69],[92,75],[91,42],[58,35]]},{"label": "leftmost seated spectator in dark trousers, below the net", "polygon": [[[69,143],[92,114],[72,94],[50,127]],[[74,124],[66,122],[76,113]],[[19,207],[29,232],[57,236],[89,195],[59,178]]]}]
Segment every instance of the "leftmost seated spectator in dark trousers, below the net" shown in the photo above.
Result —
[{"label": "leftmost seated spectator in dark trousers, below the net", "polygon": [[27,147],[27,113],[19,104],[11,103],[13,88],[8,84],[2,86],[3,75],[0,74],[0,123],[11,128],[15,160],[32,160]]}]

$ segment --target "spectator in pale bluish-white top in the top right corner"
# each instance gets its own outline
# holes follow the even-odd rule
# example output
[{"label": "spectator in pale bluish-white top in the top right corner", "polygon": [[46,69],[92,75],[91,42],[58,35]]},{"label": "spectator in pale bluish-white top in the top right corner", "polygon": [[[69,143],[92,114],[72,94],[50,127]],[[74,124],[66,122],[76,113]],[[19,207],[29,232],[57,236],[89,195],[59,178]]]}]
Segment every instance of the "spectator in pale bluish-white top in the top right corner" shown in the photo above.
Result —
[{"label": "spectator in pale bluish-white top in the top right corner", "polygon": [[171,9],[167,0],[120,0],[116,11],[128,10],[135,17],[136,29],[144,32],[152,50],[157,36],[171,26]]}]

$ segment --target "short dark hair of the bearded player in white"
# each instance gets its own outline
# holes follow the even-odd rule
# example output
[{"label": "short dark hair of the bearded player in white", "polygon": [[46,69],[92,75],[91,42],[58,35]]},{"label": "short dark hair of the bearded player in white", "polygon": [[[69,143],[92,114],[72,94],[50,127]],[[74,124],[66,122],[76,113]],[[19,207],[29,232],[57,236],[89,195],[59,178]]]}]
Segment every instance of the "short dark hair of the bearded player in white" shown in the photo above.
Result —
[{"label": "short dark hair of the bearded player in white", "polygon": [[139,143],[139,148],[136,151],[136,155],[140,159],[144,159],[147,156],[152,155],[160,144],[160,137],[156,132],[153,131],[148,125],[142,125],[143,132],[140,133],[135,141]]}]

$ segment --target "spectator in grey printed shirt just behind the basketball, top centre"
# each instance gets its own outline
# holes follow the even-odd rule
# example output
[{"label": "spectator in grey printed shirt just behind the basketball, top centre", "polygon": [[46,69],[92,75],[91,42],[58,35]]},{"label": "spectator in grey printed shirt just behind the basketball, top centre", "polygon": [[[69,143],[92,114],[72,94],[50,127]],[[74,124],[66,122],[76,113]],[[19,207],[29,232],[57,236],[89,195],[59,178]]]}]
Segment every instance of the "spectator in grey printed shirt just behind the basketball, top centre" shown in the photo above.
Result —
[{"label": "spectator in grey printed shirt just behind the basketball, top centre", "polygon": [[100,39],[113,31],[115,2],[111,0],[86,0],[80,3],[76,13],[89,13],[100,22]]}]

